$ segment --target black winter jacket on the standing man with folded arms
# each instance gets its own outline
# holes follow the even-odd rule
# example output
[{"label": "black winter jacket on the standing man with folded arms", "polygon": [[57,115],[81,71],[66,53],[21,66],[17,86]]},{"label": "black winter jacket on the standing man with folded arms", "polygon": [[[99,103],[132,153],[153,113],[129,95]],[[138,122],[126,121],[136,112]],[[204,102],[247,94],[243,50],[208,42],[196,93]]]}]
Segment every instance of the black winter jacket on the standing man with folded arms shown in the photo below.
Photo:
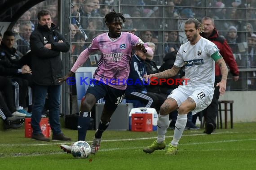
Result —
[{"label": "black winter jacket on the standing man with folded arms", "polygon": [[[63,43],[58,43],[62,40]],[[44,47],[50,43],[52,49]],[[52,24],[51,30],[47,25],[37,25],[30,36],[32,79],[38,85],[57,85],[56,80],[62,77],[62,60],[60,52],[69,51],[70,44]]]}]

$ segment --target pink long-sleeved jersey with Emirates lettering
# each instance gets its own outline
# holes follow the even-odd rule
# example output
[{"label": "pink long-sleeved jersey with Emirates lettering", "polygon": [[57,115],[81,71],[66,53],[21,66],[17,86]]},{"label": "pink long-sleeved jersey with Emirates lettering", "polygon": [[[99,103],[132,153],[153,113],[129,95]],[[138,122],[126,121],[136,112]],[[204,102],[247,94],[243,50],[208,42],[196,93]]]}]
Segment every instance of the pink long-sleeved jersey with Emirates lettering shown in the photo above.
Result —
[{"label": "pink long-sleeved jersey with Emirates lettering", "polygon": [[[137,43],[141,43],[141,40],[136,35],[128,32],[122,32],[120,37],[115,40],[112,40],[108,33],[98,35],[93,39],[90,46],[79,55],[71,71],[75,72],[81,67],[88,59],[89,54],[94,51],[101,51],[101,58],[93,75],[94,79],[116,89],[126,89],[132,47]],[[152,49],[146,45],[145,47],[148,51],[147,53],[151,54]]]}]

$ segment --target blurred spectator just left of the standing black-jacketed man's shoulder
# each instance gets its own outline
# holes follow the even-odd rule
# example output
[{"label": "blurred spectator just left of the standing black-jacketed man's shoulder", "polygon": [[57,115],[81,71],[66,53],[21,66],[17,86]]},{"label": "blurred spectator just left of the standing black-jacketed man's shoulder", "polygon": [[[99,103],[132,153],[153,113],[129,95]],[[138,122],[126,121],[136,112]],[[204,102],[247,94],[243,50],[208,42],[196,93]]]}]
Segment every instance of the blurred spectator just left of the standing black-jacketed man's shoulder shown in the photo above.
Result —
[{"label": "blurred spectator just left of the standing black-jacketed man's shoulder", "polygon": [[17,40],[18,48],[17,50],[22,53],[22,55],[25,55],[30,51],[29,47],[29,38],[32,32],[31,23],[30,22],[24,22],[20,25],[20,32],[19,36],[20,38]]}]

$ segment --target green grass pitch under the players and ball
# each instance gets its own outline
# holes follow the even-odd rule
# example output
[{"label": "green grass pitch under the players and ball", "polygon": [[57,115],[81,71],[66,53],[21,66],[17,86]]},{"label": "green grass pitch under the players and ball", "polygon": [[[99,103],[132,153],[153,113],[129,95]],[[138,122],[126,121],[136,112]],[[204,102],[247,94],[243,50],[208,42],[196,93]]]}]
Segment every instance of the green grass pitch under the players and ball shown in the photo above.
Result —
[{"label": "green grass pitch under the players and ball", "polygon": [[[230,127],[230,126],[229,126]],[[77,159],[59,145],[71,144],[77,131],[62,128],[72,142],[40,142],[25,138],[24,127],[0,131],[1,170],[254,170],[256,166],[256,123],[235,123],[233,129],[217,129],[212,135],[185,130],[177,155],[165,150],[151,154],[142,148],[156,139],[156,131],[106,130],[96,155]],[[88,131],[87,142],[94,131]],[[172,140],[168,129],[166,143]],[[167,149],[167,147],[166,147]]]}]

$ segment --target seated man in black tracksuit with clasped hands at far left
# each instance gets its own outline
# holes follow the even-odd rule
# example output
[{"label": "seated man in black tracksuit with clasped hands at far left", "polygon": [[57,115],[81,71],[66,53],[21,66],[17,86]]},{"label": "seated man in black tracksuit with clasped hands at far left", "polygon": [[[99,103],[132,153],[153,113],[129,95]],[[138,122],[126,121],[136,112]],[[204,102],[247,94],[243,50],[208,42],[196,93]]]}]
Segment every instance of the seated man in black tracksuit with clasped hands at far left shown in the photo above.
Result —
[{"label": "seated man in black tracksuit with clasped hands at far left", "polygon": [[[19,59],[22,56],[14,47],[15,34],[12,31],[5,31],[3,37],[3,43],[0,45],[0,75],[11,76],[12,85],[14,86],[14,99],[15,106],[18,113],[25,114],[26,117],[30,117],[23,107],[26,106],[26,96],[29,86],[31,87],[31,69],[26,64],[20,65]],[[29,91],[31,92],[31,90]],[[31,94],[31,93],[29,93]],[[28,95],[31,96],[31,95]],[[29,98],[32,105],[31,98]],[[28,110],[29,111],[29,110]],[[30,111],[29,111],[30,112]]]}]

